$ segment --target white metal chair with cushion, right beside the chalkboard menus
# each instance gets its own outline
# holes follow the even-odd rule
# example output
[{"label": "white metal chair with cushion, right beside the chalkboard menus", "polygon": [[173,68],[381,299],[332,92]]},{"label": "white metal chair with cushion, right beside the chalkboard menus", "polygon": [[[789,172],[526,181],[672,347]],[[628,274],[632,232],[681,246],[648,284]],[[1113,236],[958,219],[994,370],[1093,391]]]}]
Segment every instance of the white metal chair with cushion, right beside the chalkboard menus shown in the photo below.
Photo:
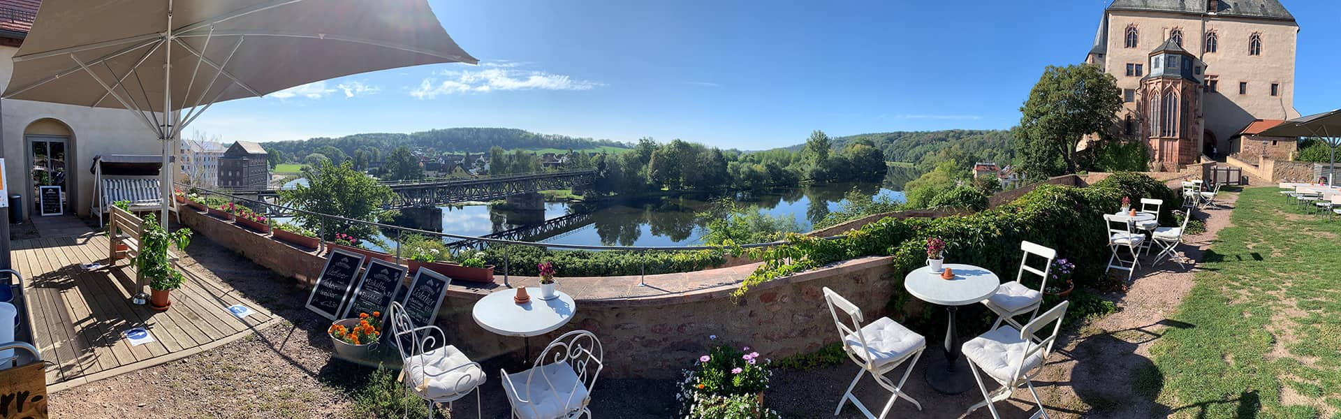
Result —
[{"label": "white metal chair with cushion, right beside the chalkboard menus", "polygon": [[433,416],[437,403],[447,403],[451,408],[452,402],[475,392],[475,415],[483,418],[480,392],[476,389],[484,384],[484,368],[467,359],[456,346],[448,345],[447,336],[437,326],[414,326],[400,302],[392,302],[386,312],[390,316],[393,345],[404,363],[401,379],[405,388],[428,402],[428,415]]}]

